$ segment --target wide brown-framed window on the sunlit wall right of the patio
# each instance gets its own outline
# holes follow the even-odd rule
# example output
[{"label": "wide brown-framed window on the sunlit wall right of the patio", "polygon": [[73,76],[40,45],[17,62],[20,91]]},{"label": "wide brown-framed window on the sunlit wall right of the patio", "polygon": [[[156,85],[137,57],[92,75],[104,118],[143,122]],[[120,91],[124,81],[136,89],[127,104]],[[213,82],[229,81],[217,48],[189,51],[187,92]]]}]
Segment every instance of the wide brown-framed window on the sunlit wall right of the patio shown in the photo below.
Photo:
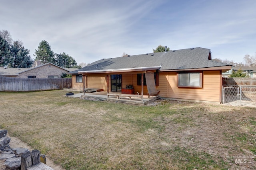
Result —
[{"label": "wide brown-framed window on the sunlit wall right of the patio", "polygon": [[177,80],[178,87],[202,88],[202,72],[179,72]]}]

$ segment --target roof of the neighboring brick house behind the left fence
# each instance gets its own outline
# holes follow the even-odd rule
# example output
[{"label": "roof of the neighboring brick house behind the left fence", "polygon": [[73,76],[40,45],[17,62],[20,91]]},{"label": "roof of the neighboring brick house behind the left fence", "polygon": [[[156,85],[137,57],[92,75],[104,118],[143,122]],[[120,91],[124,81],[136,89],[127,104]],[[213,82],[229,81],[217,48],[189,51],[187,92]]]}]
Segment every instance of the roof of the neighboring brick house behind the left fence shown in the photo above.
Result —
[{"label": "roof of the neighboring brick house behind the left fence", "polygon": [[[35,66],[35,67],[30,67],[30,68],[10,68],[10,67],[0,67],[0,76],[18,76],[18,74],[22,73],[22,72],[26,72],[28,70],[32,70],[35,68],[39,68],[48,64],[52,64],[52,63],[46,63],[46,64],[42,64],[39,66]],[[57,66],[55,64],[52,64],[56,67],[62,68],[60,66]],[[74,70],[78,70],[78,68],[62,68],[63,70],[66,70],[68,72],[70,71],[74,71]]]}]

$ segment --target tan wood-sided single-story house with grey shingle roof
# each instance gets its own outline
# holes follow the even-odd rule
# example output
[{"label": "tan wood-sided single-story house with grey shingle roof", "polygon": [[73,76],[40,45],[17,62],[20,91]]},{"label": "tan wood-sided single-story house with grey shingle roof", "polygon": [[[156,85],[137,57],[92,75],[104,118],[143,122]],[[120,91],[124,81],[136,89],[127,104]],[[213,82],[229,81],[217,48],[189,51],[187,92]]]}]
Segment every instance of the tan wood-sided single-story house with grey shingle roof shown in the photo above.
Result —
[{"label": "tan wood-sided single-story house with grey shingle roof", "polygon": [[74,90],[121,92],[132,86],[135,94],[147,95],[145,74],[153,72],[162,98],[221,102],[222,72],[230,69],[230,64],[212,61],[210,49],[197,47],[101,59],[69,74]]}]

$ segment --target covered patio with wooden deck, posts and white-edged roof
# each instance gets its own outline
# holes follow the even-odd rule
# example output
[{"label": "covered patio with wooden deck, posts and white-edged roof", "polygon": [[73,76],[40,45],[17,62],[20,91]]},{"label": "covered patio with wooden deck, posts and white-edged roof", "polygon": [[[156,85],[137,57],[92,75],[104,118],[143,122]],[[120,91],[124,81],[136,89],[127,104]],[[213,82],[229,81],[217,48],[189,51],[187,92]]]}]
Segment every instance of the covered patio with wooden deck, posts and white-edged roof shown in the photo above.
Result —
[{"label": "covered patio with wooden deck, posts and white-edged roof", "polygon": [[[92,71],[79,71],[83,78],[83,92],[82,97],[96,97],[105,98],[108,101],[123,102],[129,104],[140,104],[146,105],[148,102],[152,102],[160,98],[159,91],[156,90],[154,70],[160,69],[161,66],[152,67],[139,67],[139,68],[126,68],[126,69],[109,69],[109,70],[92,70]],[[138,85],[138,81],[134,81],[132,75],[140,75],[141,82]],[[104,79],[95,79],[97,75],[101,75]],[[90,76],[91,80],[88,80]],[[118,77],[119,82],[112,82],[112,76]],[[143,80],[145,77],[145,80]],[[122,78],[124,78],[125,83],[123,83]],[[147,83],[144,83],[144,81]],[[96,93],[86,93],[88,89],[95,88],[99,84]],[[89,85],[90,84],[90,85]],[[127,84],[129,85],[129,88]],[[113,88],[117,86],[118,88]],[[126,86],[126,88],[125,88]],[[136,90],[134,91],[134,86]],[[147,91],[144,91],[144,86]]]}]

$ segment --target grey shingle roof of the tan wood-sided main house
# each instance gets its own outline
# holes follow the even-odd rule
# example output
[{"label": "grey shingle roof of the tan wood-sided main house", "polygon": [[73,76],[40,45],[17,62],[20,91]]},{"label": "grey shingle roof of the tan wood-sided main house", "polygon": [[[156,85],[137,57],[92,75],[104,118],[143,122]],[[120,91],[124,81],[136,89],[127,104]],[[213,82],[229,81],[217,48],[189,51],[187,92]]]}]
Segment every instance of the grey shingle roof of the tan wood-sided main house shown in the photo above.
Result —
[{"label": "grey shingle roof of the tan wood-sided main house", "polygon": [[212,61],[210,49],[197,47],[160,53],[102,59],[88,64],[79,70],[70,72],[69,74],[93,71],[100,72],[101,70],[122,70],[128,68],[132,68],[132,70],[136,70],[136,68],[146,70],[147,68],[150,69],[158,67],[159,70],[174,71],[220,66],[230,66],[231,68],[231,64]]}]

